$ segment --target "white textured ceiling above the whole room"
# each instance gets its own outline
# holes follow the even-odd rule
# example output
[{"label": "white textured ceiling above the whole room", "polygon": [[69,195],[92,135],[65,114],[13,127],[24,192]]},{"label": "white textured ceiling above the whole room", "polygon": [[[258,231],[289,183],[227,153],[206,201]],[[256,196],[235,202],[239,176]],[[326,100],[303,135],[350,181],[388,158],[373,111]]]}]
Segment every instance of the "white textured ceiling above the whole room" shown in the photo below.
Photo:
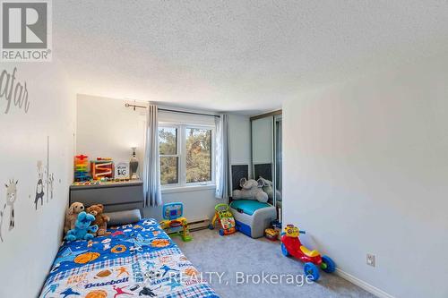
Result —
[{"label": "white textured ceiling above the whole room", "polygon": [[77,92],[254,114],[448,51],[447,1],[53,1]]}]

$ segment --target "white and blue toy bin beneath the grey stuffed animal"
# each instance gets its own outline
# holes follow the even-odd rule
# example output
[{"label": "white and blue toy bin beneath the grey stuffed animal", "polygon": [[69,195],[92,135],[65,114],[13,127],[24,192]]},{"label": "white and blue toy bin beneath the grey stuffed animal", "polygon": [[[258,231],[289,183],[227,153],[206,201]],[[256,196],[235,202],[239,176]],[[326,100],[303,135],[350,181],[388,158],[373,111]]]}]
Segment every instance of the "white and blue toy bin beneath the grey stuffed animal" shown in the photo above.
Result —
[{"label": "white and blue toy bin beneath the grey stuffed animal", "polygon": [[263,237],[264,229],[277,217],[275,207],[256,200],[233,200],[230,211],[235,217],[237,231],[252,238]]}]

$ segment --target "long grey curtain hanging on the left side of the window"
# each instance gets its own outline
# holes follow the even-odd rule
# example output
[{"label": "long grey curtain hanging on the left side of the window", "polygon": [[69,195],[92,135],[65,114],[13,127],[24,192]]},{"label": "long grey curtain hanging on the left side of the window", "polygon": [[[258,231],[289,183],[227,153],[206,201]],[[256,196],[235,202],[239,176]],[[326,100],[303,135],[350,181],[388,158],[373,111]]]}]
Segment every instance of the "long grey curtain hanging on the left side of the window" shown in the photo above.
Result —
[{"label": "long grey curtain hanging on the left side of the window", "polygon": [[159,120],[157,106],[150,104],[146,112],[146,142],[143,163],[145,206],[159,206],[163,202],[160,193]]}]

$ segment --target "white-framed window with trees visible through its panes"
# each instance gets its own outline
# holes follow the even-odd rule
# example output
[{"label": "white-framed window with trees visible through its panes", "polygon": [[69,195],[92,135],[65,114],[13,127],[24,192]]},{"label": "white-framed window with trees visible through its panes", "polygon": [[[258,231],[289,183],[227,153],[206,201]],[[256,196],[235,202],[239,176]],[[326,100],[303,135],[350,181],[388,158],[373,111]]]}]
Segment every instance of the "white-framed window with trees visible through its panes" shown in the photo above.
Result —
[{"label": "white-framed window with trees visible through its panes", "polygon": [[160,183],[165,187],[213,183],[213,127],[159,124]]}]

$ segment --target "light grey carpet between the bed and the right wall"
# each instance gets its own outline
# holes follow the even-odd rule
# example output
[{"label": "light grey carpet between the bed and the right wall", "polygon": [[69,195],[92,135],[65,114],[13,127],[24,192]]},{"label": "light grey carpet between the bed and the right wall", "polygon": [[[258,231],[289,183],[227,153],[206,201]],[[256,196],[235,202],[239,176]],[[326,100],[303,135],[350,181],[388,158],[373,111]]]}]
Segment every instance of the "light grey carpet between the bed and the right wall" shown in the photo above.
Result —
[{"label": "light grey carpet between the bed and the right wall", "polygon": [[[322,271],[318,282],[302,282],[302,263],[284,257],[279,243],[271,243],[264,238],[252,239],[240,233],[221,237],[216,229],[194,232],[193,237],[189,243],[183,243],[177,237],[175,241],[222,298],[375,297],[340,277]],[[209,275],[208,272],[222,274],[221,280],[218,275]],[[243,283],[247,278],[249,282]]]}]

